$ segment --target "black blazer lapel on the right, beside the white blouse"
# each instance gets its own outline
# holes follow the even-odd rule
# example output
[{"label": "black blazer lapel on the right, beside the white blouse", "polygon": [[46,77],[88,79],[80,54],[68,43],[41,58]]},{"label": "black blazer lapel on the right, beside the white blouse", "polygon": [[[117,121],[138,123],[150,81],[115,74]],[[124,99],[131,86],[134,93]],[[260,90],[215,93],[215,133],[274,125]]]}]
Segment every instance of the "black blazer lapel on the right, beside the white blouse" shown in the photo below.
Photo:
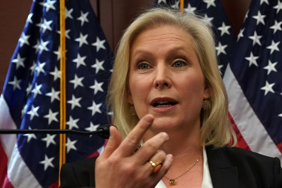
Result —
[{"label": "black blazer lapel on the right, beside the white blouse", "polygon": [[238,170],[227,162],[224,148],[212,149],[206,147],[209,170],[214,188],[238,188]]}]

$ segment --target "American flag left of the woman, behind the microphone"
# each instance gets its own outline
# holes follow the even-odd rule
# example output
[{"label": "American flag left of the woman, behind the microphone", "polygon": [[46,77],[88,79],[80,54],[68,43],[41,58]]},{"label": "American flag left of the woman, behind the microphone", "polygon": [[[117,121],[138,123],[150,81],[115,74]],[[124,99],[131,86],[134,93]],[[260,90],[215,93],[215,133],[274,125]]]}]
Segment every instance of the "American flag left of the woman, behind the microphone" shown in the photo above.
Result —
[{"label": "American flag left of the woman, behind the microphone", "polygon": [[[66,127],[108,123],[112,52],[88,0],[65,2]],[[60,4],[34,0],[0,99],[0,128],[60,129]],[[66,162],[98,155],[104,139],[66,136]],[[58,187],[59,135],[0,135],[0,187]],[[97,151],[98,150],[98,151]]]}]

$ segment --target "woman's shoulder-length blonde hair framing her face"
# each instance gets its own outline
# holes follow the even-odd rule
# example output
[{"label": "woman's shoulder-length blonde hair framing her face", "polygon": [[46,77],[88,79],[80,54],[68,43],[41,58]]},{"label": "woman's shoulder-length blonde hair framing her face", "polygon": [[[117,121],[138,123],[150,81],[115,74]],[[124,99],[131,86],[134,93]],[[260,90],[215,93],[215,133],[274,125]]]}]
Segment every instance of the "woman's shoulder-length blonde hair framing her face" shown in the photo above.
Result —
[{"label": "woman's shoulder-length blonde hair framing her face", "polygon": [[112,123],[118,127],[122,138],[138,123],[139,118],[131,115],[131,105],[126,99],[130,47],[142,31],[162,25],[182,29],[193,40],[204,82],[211,93],[209,101],[212,109],[201,110],[200,137],[203,145],[216,148],[230,143],[235,145],[237,138],[228,119],[227,93],[218,70],[212,30],[199,16],[167,8],[153,8],[139,15],[119,41],[107,95],[108,110],[113,112]]}]

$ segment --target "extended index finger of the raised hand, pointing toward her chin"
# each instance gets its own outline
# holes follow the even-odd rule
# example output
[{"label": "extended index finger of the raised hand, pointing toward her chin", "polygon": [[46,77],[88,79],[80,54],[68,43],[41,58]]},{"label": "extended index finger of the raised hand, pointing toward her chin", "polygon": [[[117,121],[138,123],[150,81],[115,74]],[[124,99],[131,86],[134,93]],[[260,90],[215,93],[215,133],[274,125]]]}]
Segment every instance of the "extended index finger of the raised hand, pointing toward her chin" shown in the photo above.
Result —
[{"label": "extended index finger of the raised hand, pointing toward her chin", "polygon": [[132,131],[127,135],[123,142],[119,145],[118,151],[120,151],[123,156],[129,156],[140,144],[145,132],[149,129],[154,121],[154,117],[150,114],[145,115],[137,125],[132,129]]}]

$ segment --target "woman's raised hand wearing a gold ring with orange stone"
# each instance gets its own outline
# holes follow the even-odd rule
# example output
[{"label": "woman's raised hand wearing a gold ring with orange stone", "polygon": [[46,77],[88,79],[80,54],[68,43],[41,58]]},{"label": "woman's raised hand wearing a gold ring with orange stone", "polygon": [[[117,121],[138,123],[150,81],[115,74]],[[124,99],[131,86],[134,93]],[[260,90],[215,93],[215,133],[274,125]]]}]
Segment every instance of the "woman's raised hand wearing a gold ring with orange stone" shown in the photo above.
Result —
[{"label": "woman's raised hand wearing a gold ring with orange stone", "polygon": [[[159,147],[169,139],[168,134],[155,135],[134,153],[153,121],[152,115],[144,116],[123,142],[118,130],[113,126],[110,127],[109,141],[104,152],[96,160],[96,188],[155,187],[169,170],[173,160],[171,154],[159,150]],[[153,170],[153,165],[149,161],[162,164]]]}]

